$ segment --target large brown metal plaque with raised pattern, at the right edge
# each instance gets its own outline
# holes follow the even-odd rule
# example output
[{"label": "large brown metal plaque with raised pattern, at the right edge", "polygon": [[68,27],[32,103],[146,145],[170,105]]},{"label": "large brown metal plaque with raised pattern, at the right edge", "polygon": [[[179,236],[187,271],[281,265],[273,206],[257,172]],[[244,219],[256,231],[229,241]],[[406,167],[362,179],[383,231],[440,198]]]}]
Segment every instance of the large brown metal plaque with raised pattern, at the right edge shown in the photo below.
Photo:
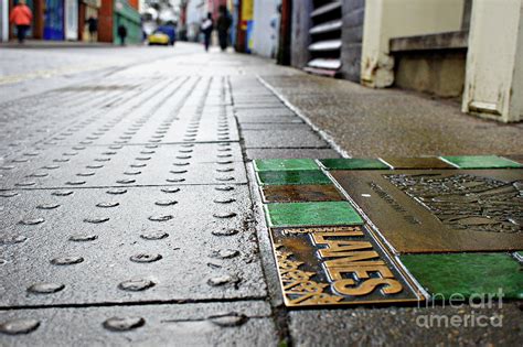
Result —
[{"label": "large brown metal plaque with raised pattern, at the right edge", "polygon": [[523,170],[337,171],[398,252],[523,249]]}]

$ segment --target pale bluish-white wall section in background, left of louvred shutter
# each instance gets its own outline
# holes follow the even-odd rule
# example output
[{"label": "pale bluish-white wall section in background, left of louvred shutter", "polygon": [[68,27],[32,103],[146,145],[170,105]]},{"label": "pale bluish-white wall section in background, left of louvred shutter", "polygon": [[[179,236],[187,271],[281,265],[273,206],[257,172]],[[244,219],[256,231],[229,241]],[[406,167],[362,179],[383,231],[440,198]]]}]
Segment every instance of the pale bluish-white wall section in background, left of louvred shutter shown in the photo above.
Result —
[{"label": "pale bluish-white wall section in background, left of louvred shutter", "polygon": [[279,0],[254,0],[253,53],[275,57],[278,46]]}]

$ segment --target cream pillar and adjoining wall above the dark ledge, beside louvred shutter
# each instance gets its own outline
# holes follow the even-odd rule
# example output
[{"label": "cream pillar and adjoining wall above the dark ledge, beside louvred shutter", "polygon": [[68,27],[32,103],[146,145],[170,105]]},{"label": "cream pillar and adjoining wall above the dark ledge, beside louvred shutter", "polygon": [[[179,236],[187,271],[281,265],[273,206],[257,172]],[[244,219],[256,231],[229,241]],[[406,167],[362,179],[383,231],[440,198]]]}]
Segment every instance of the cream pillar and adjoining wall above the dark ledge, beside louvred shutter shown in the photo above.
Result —
[{"label": "cream pillar and adjoining wall above the dark ledge, beside louvred shutter", "polygon": [[414,36],[461,28],[465,0],[367,0],[363,25],[362,83],[386,87],[394,82],[388,55],[392,37]]}]

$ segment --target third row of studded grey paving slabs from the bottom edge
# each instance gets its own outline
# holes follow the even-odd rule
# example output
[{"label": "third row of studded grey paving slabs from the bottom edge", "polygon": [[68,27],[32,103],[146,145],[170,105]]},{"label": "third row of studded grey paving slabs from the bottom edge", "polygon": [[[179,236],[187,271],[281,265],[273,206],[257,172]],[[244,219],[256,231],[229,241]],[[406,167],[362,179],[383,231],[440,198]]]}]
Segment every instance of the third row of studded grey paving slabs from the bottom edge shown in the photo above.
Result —
[{"label": "third row of studded grey paving slabs from the bottom edge", "polygon": [[3,188],[246,183],[237,143],[45,148],[0,165]]}]

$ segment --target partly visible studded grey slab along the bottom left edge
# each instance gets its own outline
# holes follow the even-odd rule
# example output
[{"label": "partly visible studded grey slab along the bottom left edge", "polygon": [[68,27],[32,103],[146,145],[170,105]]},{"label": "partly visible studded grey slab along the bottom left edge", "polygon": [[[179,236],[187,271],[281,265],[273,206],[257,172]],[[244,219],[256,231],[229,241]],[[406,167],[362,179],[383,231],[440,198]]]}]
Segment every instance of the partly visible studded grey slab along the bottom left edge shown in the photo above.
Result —
[{"label": "partly visible studded grey slab along the bottom left edge", "polygon": [[[3,334],[6,346],[276,346],[268,304],[258,301],[76,308],[10,310],[2,324],[33,326]],[[34,327],[35,326],[35,327]]]}]

